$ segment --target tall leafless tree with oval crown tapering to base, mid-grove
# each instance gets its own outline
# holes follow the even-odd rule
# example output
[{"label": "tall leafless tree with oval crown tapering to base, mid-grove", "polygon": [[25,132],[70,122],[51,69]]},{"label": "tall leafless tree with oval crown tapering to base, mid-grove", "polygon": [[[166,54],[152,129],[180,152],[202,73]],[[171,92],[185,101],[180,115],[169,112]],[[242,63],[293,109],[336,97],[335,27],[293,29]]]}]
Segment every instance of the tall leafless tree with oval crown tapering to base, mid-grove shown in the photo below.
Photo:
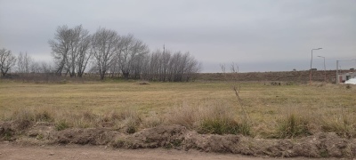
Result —
[{"label": "tall leafless tree with oval crown tapering to base, mid-grove", "polygon": [[109,70],[117,51],[119,36],[114,30],[99,28],[93,35],[93,60],[101,80]]}]

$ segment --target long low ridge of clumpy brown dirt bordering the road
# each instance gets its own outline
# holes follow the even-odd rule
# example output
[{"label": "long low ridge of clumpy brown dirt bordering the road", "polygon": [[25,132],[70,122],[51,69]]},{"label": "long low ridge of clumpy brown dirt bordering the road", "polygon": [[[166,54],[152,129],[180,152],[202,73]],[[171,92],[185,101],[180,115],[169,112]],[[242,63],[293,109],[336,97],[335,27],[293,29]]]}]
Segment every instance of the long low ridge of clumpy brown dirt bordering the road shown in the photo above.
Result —
[{"label": "long low ridge of clumpy brown dirt bordering the road", "polygon": [[[13,125],[15,126],[15,125]],[[2,140],[14,132],[11,123],[0,124]],[[272,157],[354,157],[356,140],[344,139],[335,132],[320,132],[301,139],[263,140],[243,135],[199,134],[182,125],[162,125],[127,134],[108,128],[67,129],[55,131],[48,124],[35,124],[28,129],[29,138],[44,135],[48,143],[108,145],[114,148],[175,148],[197,149],[205,152],[222,152],[249,156]],[[23,135],[22,135],[23,136]],[[13,139],[16,136],[12,136]],[[20,139],[19,139],[20,140]],[[17,141],[19,141],[17,140]]]}]

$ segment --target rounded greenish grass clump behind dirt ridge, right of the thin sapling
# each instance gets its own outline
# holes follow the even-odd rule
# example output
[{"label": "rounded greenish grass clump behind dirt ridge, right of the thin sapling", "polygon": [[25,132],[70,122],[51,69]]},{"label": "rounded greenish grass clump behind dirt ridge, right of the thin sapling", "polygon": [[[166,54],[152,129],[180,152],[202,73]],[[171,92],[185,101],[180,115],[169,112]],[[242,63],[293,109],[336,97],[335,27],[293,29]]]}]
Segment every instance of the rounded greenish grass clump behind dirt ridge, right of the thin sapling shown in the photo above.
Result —
[{"label": "rounded greenish grass clump behind dirt ridge, right of the thin sapling", "polygon": [[279,121],[277,136],[279,138],[295,138],[311,135],[310,119],[302,114],[290,113]]}]

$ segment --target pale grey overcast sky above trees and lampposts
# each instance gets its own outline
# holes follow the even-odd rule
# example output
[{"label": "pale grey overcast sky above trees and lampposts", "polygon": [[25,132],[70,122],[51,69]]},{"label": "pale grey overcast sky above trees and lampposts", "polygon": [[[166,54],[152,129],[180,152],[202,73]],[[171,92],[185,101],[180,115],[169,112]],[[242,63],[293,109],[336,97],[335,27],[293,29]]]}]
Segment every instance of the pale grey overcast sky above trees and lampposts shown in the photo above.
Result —
[{"label": "pale grey overcast sky above trees and lampposts", "polygon": [[[202,72],[336,69],[356,59],[356,0],[0,0],[0,48],[52,60],[57,27],[129,33],[150,46],[190,52]],[[356,68],[356,62],[340,62]]]}]

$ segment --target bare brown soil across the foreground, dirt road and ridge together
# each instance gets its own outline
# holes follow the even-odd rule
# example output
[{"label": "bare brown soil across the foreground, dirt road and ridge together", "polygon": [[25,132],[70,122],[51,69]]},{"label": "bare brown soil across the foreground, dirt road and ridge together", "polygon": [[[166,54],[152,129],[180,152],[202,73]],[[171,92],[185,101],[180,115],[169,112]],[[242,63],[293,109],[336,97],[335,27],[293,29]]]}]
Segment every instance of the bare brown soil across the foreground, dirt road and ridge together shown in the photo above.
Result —
[{"label": "bare brown soil across the foreground, dirt road and ridge together", "polygon": [[[181,125],[158,126],[134,134],[127,134],[110,128],[55,131],[54,126],[50,123],[4,122],[0,123],[0,138],[3,141],[10,141],[3,142],[0,147],[0,152],[2,152],[0,157],[5,159],[32,159],[37,157],[36,155],[43,156],[40,159],[48,157],[55,159],[63,156],[68,159],[83,159],[85,157],[97,159],[98,156],[101,159],[113,157],[116,159],[116,156],[123,156],[127,159],[159,159],[159,155],[164,155],[162,159],[181,159],[181,157],[190,159],[195,156],[201,156],[201,159],[206,159],[206,156],[214,156],[213,159],[226,156],[222,159],[229,159],[230,156],[236,158],[239,155],[319,158],[352,158],[356,156],[356,140],[341,138],[335,132],[320,132],[300,139],[263,140],[242,135],[198,134],[198,132],[189,131]],[[70,145],[73,144],[82,146],[71,149]],[[42,147],[23,148],[16,145]],[[46,150],[47,148],[49,149]],[[147,150],[145,148],[156,149]],[[54,153],[57,150],[59,152]],[[23,154],[27,152],[28,154]],[[170,155],[172,153],[178,156]],[[200,153],[210,154],[199,155]],[[215,154],[211,155],[211,153]],[[20,155],[24,157],[22,158]]]}]

